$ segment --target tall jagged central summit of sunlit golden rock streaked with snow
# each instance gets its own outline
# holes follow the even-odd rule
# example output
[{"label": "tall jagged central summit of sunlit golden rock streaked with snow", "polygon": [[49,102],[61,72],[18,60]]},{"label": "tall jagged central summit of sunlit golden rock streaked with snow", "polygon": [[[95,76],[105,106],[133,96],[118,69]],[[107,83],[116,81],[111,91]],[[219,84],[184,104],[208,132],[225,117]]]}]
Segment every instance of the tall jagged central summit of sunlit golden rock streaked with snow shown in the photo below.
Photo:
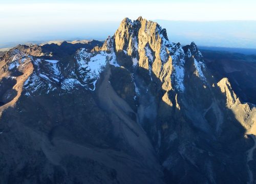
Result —
[{"label": "tall jagged central summit of sunlit golden rock streaked with snow", "polygon": [[[196,44],[192,42],[185,48],[186,52],[180,43],[170,42],[166,30],[157,22],[139,17],[134,21],[124,18],[116,33],[106,39],[101,48],[95,48],[93,51],[112,53],[112,58],[116,58],[116,61],[112,60],[113,63],[124,67],[138,65],[145,68],[151,79],[152,75],[155,75],[164,83],[163,88],[167,91],[175,89],[182,92],[185,90],[183,80],[186,58],[194,58],[195,70],[205,81],[205,65]],[[129,59],[125,62],[118,60],[121,53],[129,56]]]}]

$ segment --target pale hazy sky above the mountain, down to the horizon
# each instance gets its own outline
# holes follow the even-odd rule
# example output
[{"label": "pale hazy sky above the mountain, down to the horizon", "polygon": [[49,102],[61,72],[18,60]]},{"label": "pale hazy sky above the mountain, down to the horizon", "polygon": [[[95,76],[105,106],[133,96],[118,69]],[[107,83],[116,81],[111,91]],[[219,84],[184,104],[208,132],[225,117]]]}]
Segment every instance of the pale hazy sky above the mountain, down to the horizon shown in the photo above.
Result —
[{"label": "pale hazy sky above the mountain, down to the horizon", "polygon": [[252,0],[0,0],[0,5],[0,48],[31,41],[105,40],[124,17],[134,20],[142,16],[166,28],[173,42],[256,49],[256,3]]}]

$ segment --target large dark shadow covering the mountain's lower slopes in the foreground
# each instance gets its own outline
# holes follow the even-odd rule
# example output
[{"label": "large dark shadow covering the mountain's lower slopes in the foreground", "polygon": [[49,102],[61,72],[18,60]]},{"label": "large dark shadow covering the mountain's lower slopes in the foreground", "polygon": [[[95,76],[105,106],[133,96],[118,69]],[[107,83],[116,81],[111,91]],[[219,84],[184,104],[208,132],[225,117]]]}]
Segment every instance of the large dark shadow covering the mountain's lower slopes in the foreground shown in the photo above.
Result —
[{"label": "large dark shadow covering the mountain's lower slopes in the foreground", "polygon": [[[62,62],[66,67],[74,60]],[[172,103],[166,103],[154,73],[132,70],[107,65],[94,92],[79,87],[65,94],[58,86],[28,97],[23,91],[14,108],[2,114],[0,181],[249,181],[246,151],[253,140],[244,136],[218,87],[204,87],[187,62],[184,94],[170,90]]]}]

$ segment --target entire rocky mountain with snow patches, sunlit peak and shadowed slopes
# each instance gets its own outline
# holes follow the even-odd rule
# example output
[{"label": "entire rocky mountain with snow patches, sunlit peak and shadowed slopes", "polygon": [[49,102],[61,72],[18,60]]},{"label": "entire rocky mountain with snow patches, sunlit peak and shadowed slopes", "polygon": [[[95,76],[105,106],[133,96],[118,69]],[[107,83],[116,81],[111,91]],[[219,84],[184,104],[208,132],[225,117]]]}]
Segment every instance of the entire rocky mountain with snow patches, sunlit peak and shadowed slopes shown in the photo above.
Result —
[{"label": "entire rocky mountain with snow patches, sunlit peak and shadowed slopes", "polygon": [[212,68],[142,17],[1,53],[0,182],[254,183],[255,105]]}]

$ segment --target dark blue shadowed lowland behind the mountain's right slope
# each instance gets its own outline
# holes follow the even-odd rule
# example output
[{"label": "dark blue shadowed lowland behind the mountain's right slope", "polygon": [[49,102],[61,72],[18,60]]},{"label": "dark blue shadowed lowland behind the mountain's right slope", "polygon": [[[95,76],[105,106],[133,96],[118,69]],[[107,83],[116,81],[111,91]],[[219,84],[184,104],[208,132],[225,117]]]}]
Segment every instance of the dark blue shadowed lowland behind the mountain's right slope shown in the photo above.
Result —
[{"label": "dark blue shadowed lowland behind the mountain's right slope", "polygon": [[218,80],[229,79],[235,93],[243,102],[256,104],[255,55],[203,50],[205,64]]}]

